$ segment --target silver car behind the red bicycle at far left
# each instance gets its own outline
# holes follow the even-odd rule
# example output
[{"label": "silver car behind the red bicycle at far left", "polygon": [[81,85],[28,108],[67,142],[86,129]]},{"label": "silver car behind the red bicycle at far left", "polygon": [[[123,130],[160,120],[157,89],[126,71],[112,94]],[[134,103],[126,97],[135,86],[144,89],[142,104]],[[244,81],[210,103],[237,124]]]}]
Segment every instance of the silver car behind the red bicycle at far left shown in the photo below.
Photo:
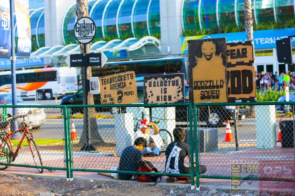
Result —
[{"label": "silver car behind the red bicycle at far left", "polygon": [[[12,94],[11,93],[0,93],[0,103],[1,104],[7,104],[11,105],[12,104]],[[16,103],[17,105],[29,105],[31,107],[29,108],[17,108],[17,114],[23,115],[28,113],[29,110],[35,110],[36,112],[30,114],[29,117],[29,125],[33,128],[38,128],[40,127],[46,120],[46,113],[44,112],[44,108],[34,108],[33,106],[39,106],[40,104],[36,103],[29,103],[29,102],[24,102],[22,99],[16,97]],[[3,113],[3,108],[0,107],[0,114],[1,114],[1,120],[2,120],[2,113]],[[7,114],[8,117],[12,116],[12,108],[7,108]],[[22,119],[18,119],[18,126],[21,127],[22,124]]]}]

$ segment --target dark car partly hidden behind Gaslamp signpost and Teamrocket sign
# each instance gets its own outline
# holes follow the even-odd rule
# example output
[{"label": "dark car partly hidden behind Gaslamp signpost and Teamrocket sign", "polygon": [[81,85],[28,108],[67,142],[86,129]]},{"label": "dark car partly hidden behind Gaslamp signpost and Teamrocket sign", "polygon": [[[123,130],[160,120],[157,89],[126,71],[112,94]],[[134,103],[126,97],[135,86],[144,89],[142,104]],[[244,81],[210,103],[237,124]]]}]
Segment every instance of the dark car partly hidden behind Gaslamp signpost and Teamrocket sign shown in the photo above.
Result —
[{"label": "dark car partly hidden behind Gaslamp signpost and Teamrocket sign", "polygon": [[[93,95],[93,99],[94,99],[94,104],[95,105],[100,105],[100,94],[94,94]],[[73,95],[68,95],[63,97],[60,100],[60,105],[83,105],[83,89],[78,90],[76,93],[74,93]],[[96,108],[96,111],[109,111],[111,114],[115,114],[115,113],[119,113],[119,108],[116,107],[106,107],[105,108]],[[125,109],[121,108],[121,111],[124,113]],[[71,110],[71,113],[83,113],[83,108],[73,108]]]}]

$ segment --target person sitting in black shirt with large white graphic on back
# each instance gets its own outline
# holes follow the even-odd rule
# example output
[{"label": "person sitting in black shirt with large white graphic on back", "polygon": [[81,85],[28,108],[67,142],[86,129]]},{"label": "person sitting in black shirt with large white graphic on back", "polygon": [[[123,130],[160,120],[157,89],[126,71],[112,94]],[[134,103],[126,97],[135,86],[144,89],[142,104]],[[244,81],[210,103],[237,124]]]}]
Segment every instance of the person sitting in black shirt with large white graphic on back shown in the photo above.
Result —
[{"label": "person sitting in black shirt with large white graphic on back", "polygon": [[[167,146],[165,156],[165,172],[172,174],[190,174],[190,169],[184,166],[184,158],[190,156],[189,144],[184,143],[185,129],[182,127],[175,127],[173,129],[174,142]],[[195,167],[194,167],[194,171]],[[207,171],[206,166],[199,166],[199,175]],[[195,172],[194,172],[195,175]]]}]

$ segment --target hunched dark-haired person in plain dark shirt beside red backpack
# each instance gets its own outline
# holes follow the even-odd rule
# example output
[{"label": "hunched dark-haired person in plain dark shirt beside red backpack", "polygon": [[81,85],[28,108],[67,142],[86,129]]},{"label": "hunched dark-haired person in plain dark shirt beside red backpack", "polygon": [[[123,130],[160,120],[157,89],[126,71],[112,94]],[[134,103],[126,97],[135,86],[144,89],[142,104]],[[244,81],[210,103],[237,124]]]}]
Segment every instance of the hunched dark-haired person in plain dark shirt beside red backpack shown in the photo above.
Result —
[{"label": "hunched dark-haired person in plain dark shirt beside red backpack", "polygon": [[[145,138],[139,137],[133,146],[128,146],[122,151],[119,161],[119,171],[137,171],[137,163],[142,160],[142,149],[146,148]],[[133,174],[118,174],[120,180],[133,179]]]}]

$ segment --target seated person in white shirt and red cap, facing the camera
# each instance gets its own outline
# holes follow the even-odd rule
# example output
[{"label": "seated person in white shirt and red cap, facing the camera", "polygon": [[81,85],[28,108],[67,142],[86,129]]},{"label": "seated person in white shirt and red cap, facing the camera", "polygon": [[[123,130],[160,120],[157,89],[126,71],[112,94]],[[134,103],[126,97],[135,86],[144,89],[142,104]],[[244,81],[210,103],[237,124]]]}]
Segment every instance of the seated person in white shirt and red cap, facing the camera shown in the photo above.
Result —
[{"label": "seated person in white shirt and red cap, facing the camera", "polygon": [[[139,130],[135,132],[134,139],[138,137],[143,137],[146,139],[147,147],[142,150],[143,157],[154,157],[161,154],[159,146],[156,141],[149,142],[149,138],[159,132],[157,125],[153,122],[147,122],[146,119],[140,121],[141,125],[139,126]],[[153,129],[150,128],[153,126]]]}]

